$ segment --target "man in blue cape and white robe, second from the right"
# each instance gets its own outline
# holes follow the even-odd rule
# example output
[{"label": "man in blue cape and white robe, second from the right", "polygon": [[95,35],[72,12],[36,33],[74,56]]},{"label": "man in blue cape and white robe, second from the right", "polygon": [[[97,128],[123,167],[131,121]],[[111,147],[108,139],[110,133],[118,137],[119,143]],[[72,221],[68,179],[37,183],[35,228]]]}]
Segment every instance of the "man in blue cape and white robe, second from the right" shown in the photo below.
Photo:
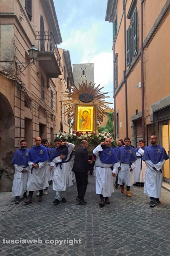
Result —
[{"label": "man in blue cape and white robe, second from the right", "polygon": [[144,187],[145,182],[145,163],[142,161],[145,152],[144,140],[139,140],[139,146],[135,149],[137,161],[134,169],[134,186],[140,185]]}]

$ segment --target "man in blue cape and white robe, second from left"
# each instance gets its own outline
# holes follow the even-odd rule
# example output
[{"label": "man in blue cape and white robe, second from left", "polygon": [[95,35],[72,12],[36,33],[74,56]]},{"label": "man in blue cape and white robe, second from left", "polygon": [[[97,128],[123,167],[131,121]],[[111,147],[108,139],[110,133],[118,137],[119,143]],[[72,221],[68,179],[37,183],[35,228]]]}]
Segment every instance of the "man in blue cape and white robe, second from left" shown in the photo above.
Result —
[{"label": "man in blue cape and white robe, second from left", "polygon": [[24,203],[32,203],[32,196],[35,190],[39,190],[38,202],[43,201],[43,190],[49,186],[46,174],[46,166],[49,163],[49,153],[46,147],[40,144],[41,138],[35,138],[35,146],[28,152],[28,164],[31,168],[29,174],[27,190],[29,190],[28,199]]}]

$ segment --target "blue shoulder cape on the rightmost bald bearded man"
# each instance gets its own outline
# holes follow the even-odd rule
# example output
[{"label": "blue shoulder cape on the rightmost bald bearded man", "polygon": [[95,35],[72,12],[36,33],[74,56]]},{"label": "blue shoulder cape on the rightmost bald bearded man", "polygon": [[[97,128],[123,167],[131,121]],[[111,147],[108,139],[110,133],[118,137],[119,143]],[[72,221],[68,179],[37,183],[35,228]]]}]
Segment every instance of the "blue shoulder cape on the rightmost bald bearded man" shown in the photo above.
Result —
[{"label": "blue shoulder cape on the rightmost bald bearded man", "polygon": [[168,156],[165,149],[160,145],[155,146],[148,146],[145,149],[143,155],[143,161],[150,160],[154,165],[158,164],[159,162],[163,161],[163,159],[167,160]]}]

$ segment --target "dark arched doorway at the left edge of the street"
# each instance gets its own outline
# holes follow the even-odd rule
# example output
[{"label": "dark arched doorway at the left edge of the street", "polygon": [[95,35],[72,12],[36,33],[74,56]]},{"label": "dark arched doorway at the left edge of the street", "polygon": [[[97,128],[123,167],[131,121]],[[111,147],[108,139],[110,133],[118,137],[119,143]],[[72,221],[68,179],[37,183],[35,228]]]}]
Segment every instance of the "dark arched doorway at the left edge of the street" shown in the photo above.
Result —
[{"label": "dark arched doorway at the left edge of the street", "polygon": [[0,191],[10,191],[14,177],[14,166],[11,160],[15,149],[15,117],[8,99],[1,92],[0,148],[0,168],[5,170],[0,180]]}]

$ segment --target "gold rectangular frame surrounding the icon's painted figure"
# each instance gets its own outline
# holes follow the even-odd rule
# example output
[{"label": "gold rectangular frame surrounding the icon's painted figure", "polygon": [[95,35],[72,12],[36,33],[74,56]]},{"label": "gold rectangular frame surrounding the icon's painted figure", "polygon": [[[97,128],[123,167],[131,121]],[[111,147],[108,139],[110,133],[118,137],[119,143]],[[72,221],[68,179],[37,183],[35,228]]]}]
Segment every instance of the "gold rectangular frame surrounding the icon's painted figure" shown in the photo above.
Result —
[{"label": "gold rectangular frame surrounding the icon's painted figure", "polygon": [[[83,110],[90,111],[91,113],[91,124],[90,129],[80,129],[80,118],[81,113]],[[87,104],[87,105],[81,105],[81,104],[75,104],[74,109],[74,130],[77,132],[93,132],[96,131],[96,104]]]}]

